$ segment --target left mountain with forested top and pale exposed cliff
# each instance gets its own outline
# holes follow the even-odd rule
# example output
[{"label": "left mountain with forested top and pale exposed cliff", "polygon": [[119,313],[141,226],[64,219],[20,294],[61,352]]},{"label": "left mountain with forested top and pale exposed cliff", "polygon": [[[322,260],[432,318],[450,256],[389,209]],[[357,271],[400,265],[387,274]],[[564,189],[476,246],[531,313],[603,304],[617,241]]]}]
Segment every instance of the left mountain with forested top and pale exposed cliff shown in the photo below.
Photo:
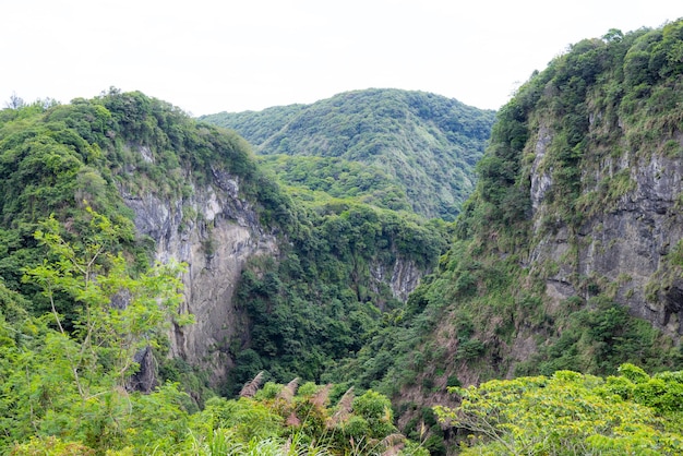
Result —
[{"label": "left mountain with forested top and pale exposed cliff", "polygon": [[[34,232],[52,214],[67,240],[83,243],[94,211],[121,231],[108,248],[130,259],[133,271],[156,260],[188,264],[180,312],[197,321],[169,333],[170,351],[195,365],[203,359],[216,367],[212,377],[225,377],[221,355],[207,353],[236,333],[225,324],[236,312],[224,304],[244,262],[277,251],[272,220],[286,225],[288,215],[287,197],[257,168],[247,143],[196,124],[172,105],[118,91],[3,110],[0,137],[2,284],[32,301],[34,314],[48,311],[35,285],[22,281],[24,268],[46,254]],[[60,295],[70,329],[79,305]]]}]

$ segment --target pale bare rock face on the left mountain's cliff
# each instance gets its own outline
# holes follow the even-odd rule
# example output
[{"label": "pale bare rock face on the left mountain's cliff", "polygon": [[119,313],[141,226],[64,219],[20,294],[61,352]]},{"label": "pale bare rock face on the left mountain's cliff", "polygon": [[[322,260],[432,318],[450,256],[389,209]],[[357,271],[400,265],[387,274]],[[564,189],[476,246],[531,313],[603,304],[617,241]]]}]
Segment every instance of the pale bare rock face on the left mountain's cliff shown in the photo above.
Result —
[{"label": "pale bare rock face on the left mountain's cliff", "polygon": [[188,265],[183,274],[184,309],[195,324],[175,327],[171,356],[206,368],[214,381],[231,367],[231,340],[248,337],[244,314],[232,296],[244,263],[254,255],[277,255],[276,238],[259,225],[253,207],[238,196],[239,181],[214,171],[214,181],[193,184],[189,197],[123,194],[135,226],[156,243],[156,260]]}]

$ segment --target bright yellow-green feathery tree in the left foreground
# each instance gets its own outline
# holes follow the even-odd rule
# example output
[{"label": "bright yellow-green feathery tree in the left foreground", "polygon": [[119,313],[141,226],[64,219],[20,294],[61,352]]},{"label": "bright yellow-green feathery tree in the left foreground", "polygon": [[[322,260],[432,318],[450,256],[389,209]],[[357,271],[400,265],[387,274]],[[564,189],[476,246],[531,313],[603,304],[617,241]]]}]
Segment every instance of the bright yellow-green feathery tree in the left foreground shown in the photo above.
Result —
[{"label": "bright yellow-green feathery tree in the left foreground", "polygon": [[[86,214],[89,223],[73,240],[55,217],[35,232],[46,257],[25,269],[24,280],[43,289],[50,313],[31,316],[19,295],[0,287],[0,446],[23,443],[15,454],[48,446],[173,453],[187,432],[188,395],[173,384],[142,395],[127,381],[137,350],[160,346],[171,320],[190,320],[177,314],[182,267],[157,264],[133,277],[116,252],[122,228]],[[68,304],[75,314],[70,328]]]}]

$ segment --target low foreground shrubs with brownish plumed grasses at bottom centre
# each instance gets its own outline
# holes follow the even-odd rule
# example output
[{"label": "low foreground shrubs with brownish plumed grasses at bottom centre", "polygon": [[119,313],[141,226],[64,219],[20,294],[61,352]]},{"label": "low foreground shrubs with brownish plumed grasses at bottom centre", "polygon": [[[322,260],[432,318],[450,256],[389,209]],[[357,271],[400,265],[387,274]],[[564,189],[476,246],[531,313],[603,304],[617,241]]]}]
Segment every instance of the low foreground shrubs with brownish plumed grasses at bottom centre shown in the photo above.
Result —
[{"label": "low foreground shrubs with brownish plumed grasses at bottom centre", "polygon": [[329,406],[332,385],[309,383],[298,391],[296,381],[271,385],[277,394],[208,400],[206,408],[192,417],[187,452],[361,456],[393,451],[426,455],[419,444],[396,433],[385,396],[369,391],[354,399],[349,391]]}]

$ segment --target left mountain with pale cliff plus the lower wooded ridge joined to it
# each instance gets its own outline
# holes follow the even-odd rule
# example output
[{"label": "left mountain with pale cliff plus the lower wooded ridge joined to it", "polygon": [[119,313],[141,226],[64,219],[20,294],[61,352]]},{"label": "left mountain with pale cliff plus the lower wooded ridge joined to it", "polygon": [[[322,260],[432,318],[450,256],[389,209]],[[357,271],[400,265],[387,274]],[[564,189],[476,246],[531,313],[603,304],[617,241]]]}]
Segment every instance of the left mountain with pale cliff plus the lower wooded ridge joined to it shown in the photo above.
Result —
[{"label": "left mountain with pale cliff plus the lower wooded ridge joined to it", "polygon": [[[233,368],[253,377],[254,365],[283,358],[274,345],[291,350],[290,338],[310,345],[290,356],[281,381],[309,355],[314,380],[357,349],[379,324],[380,308],[403,305],[444,248],[443,227],[414,214],[295,204],[236,133],[136,92],[1,110],[0,155],[0,285],[25,297],[36,315],[50,312],[45,296],[22,280],[24,267],[45,260],[33,232],[55,214],[80,245],[91,211],[101,214],[116,227],[107,248],[125,256],[132,274],[151,260],[187,264],[181,312],[195,323],[173,327],[168,359],[156,355],[168,380],[195,386],[187,372],[212,386]],[[59,299],[70,327],[80,304]],[[293,321],[301,324],[287,326]],[[238,362],[257,350],[256,364]],[[149,391],[152,350],[136,360],[145,369],[132,384]]]}]

